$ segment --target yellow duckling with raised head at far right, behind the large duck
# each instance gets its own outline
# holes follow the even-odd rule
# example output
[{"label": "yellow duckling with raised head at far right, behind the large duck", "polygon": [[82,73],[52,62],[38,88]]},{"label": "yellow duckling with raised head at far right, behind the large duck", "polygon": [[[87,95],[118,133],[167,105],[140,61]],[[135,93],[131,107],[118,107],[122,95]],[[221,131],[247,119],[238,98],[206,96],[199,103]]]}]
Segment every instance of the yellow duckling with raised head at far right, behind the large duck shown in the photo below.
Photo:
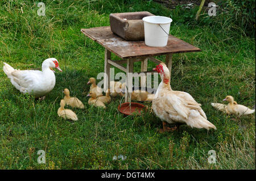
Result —
[{"label": "yellow duckling with raised head at far right, behind the large duck", "polygon": [[233,96],[228,95],[226,96],[225,99],[223,99],[223,101],[228,101],[228,111],[234,115],[237,115],[238,117],[242,116],[242,115],[249,115],[251,113],[254,113],[255,110],[251,110],[249,108],[247,108],[246,106],[243,106],[241,104],[237,104],[237,102],[234,101]]}]

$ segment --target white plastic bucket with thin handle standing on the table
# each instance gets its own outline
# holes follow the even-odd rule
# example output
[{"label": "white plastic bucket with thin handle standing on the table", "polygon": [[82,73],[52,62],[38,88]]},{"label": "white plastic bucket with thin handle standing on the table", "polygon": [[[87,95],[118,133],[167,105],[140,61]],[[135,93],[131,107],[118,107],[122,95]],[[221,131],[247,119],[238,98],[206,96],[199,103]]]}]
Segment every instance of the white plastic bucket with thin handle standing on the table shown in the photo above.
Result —
[{"label": "white plastic bucket with thin handle standing on the table", "polygon": [[142,20],[145,44],[150,47],[166,46],[172,19],[166,16],[146,16]]}]

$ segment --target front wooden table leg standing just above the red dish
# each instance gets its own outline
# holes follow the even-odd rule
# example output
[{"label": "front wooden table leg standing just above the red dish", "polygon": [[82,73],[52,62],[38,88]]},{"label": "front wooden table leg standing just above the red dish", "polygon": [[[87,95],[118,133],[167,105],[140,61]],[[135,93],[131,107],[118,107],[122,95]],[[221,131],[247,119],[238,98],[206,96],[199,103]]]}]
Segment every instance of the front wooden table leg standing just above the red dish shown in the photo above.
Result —
[{"label": "front wooden table leg standing just above the red dish", "polygon": [[125,102],[131,102],[133,92],[133,59],[127,59]]}]

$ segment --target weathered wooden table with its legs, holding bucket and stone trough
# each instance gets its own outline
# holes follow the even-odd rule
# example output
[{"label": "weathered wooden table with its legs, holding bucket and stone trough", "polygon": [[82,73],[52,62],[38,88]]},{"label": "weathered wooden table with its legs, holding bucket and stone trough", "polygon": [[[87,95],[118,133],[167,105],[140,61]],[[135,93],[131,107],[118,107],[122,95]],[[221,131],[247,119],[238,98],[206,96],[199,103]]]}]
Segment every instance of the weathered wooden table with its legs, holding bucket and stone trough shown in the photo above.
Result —
[{"label": "weathered wooden table with its legs, holding bucket and stone trough", "polygon": [[[132,73],[134,62],[141,61],[141,72],[152,73],[152,70],[147,71],[147,61],[150,60],[156,64],[160,64],[162,61],[157,60],[154,58],[154,56],[165,54],[165,63],[171,74],[173,53],[200,51],[199,48],[194,47],[193,45],[188,44],[185,41],[180,40],[172,35],[169,35],[168,44],[166,47],[148,47],[145,45],[144,41],[126,41],[122,39],[122,37],[112,33],[109,26],[81,29],[81,32],[84,33],[85,36],[88,36],[90,39],[105,47],[105,90],[110,87],[110,65],[113,65],[116,68],[126,72],[127,89],[125,92],[125,102],[131,102],[131,92],[134,77]],[[111,52],[122,58],[122,60],[111,60]],[[126,64],[126,68],[122,64]],[[141,77],[141,86],[143,87],[146,85],[145,83],[146,76],[143,76]]]}]

